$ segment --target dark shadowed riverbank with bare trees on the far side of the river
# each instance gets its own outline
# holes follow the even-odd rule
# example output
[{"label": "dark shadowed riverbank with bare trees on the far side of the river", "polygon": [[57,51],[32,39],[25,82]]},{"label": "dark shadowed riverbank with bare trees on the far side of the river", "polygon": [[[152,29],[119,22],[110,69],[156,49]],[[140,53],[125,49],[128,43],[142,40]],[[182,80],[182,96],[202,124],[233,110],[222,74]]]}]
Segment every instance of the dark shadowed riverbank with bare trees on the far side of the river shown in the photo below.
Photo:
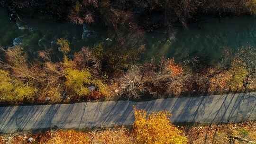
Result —
[{"label": "dark shadowed riverbank with bare trees on the far side of the river", "polygon": [[[204,16],[251,15],[256,10],[254,0],[179,0],[119,1],[119,0],[1,0],[13,20],[20,16],[49,15],[53,19],[70,20],[76,24],[104,23],[117,31],[172,27]],[[125,16],[125,17],[123,17]]]}]

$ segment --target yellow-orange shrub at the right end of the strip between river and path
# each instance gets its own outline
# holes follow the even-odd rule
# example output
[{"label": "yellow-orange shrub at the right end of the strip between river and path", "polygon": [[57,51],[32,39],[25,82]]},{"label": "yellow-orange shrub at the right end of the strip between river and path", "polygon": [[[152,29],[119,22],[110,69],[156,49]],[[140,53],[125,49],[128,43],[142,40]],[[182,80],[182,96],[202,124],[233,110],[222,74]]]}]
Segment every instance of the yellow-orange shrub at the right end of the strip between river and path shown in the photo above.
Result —
[{"label": "yellow-orange shrub at the right end of the strip between river and path", "polygon": [[[255,90],[254,81],[256,80],[256,50],[251,47],[242,47],[238,52],[230,54],[222,59],[221,67],[226,68],[227,87],[232,91],[236,90]],[[231,77],[230,77],[231,76]]]}]

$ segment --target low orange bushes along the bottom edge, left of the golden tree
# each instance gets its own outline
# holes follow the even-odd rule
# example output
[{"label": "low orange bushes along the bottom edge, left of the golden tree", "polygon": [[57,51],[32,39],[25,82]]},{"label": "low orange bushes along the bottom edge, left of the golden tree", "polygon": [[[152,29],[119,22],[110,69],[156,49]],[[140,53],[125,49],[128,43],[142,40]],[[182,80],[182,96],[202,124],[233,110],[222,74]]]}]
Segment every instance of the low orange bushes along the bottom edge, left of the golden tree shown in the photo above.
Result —
[{"label": "low orange bushes along the bottom edge, left of the golden tree", "polygon": [[38,136],[38,144],[134,144],[128,131],[121,127],[104,131],[48,131]]}]

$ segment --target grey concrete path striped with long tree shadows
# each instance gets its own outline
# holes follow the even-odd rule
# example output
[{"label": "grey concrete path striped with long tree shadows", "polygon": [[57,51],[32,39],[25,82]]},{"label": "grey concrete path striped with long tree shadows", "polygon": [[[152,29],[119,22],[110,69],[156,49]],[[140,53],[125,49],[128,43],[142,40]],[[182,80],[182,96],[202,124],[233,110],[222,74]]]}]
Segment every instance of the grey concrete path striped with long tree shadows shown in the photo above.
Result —
[{"label": "grey concrete path striped with long tree shadows", "polygon": [[0,133],[58,128],[132,125],[133,106],[148,113],[168,110],[174,123],[229,123],[256,120],[256,92],[247,94],[0,107]]}]

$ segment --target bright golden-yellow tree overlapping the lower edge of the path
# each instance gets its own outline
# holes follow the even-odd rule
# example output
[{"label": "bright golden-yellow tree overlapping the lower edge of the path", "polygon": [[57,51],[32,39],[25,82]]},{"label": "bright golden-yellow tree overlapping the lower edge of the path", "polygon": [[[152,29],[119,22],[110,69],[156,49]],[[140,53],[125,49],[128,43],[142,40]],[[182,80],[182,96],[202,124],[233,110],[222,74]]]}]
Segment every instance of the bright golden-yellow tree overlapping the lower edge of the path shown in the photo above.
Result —
[{"label": "bright golden-yellow tree overlapping the lower edge of the path", "polygon": [[186,144],[182,131],[171,124],[170,114],[164,111],[147,115],[135,109],[134,134],[137,144]]}]

